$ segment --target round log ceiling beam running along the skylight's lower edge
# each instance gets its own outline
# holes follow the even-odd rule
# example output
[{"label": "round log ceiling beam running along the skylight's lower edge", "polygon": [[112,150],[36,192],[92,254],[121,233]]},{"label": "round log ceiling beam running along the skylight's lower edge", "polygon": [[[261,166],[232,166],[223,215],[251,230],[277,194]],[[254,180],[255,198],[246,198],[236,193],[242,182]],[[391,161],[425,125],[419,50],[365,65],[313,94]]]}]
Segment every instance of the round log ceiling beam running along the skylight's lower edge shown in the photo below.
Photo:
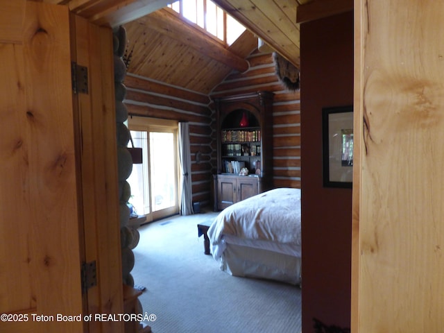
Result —
[{"label": "round log ceiling beam running along the skylight's lower edge", "polygon": [[208,37],[207,34],[199,29],[183,22],[175,12],[167,9],[157,10],[139,19],[138,22],[146,24],[147,28],[153,29],[157,33],[167,35],[178,42],[187,44],[187,46],[203,55],[241,73],[250,67],[248,61],[225,49],[222,43],[217,42],[212,37]]}]

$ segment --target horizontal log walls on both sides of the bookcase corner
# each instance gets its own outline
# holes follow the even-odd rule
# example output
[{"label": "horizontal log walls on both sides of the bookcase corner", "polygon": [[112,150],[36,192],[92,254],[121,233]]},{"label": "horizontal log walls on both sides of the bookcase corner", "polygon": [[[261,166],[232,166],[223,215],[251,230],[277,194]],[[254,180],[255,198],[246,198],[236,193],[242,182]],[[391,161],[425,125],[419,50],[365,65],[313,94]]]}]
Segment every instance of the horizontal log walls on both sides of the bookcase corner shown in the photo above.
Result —
[{"label": "horizontal log walls on both sides of the bookcase corner", "polygon": [[[189,121],[193,201],[212,203],[216,172],[216,112],[211,99],[268,90],[273,102],[273,185],[300,188],[300,93],[289,92],[275,76],[271,53],[253,52],[250,69],[233,71],[210,96],[128,74],[125,103],[129,114]],[[196,158],[197,156],[197,158]]]}]

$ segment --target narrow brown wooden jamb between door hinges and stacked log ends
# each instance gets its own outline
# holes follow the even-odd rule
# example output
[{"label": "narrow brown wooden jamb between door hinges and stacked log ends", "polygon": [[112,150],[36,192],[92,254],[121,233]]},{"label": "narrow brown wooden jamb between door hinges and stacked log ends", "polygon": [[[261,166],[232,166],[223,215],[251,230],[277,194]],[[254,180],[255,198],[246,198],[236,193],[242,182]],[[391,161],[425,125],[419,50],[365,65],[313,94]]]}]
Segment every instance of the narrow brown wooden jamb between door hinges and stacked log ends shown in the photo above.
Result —
[{"label": "narrow brown wooden jamb between door hinges and stacked log ends", "polygon": [[[85,261],[96,262],[97,286],[85,296],[87,314],[121,314],[123,286],[117,139],[114,109],[114,59],[111,28],[71,15],[72,59],[87,68],[88,92],[77,94],[78,157]],[[90,321],[88,332],[123,332],[123,322]]]}]

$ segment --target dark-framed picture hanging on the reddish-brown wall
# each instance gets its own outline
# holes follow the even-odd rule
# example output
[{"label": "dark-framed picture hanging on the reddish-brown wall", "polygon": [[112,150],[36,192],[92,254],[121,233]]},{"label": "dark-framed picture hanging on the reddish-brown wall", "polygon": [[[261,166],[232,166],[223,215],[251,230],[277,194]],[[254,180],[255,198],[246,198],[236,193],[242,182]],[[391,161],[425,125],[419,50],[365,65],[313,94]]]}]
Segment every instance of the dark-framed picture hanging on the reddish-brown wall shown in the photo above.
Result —
[{"label": "dark-framed picture hanging on the reddish-brown wall", "polygon": [[323,185],[352,188],[353,107],[323,108]]}]

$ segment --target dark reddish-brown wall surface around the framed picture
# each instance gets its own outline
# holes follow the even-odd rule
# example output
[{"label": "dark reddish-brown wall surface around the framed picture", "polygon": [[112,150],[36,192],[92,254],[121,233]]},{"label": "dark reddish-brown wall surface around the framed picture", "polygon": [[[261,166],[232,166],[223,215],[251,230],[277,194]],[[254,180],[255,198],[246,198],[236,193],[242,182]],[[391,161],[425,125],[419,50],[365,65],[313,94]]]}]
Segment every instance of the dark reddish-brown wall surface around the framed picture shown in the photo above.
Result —
[{"label": "dark reddish-brown wall surface around the framed picture", "polygon": [[353,102],[353,15],[301,25],[302,332],[350,327],[352,189],[323,187],[322,108]]}]

